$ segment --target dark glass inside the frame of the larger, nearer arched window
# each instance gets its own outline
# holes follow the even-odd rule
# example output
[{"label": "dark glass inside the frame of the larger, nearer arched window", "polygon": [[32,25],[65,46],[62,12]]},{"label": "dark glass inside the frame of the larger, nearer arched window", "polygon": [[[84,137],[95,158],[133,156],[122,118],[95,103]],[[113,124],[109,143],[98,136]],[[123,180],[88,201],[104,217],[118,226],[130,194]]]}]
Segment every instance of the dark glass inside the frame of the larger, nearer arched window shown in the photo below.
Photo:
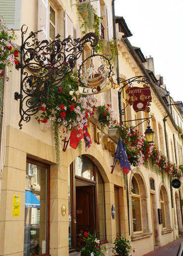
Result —
[{"label": "dark glass inside the frame of the larger, nearer arched window", "polygon": [[138,182],[135,177],[132,178],[132,215],[134,232],[142,231],[141,197]]}]

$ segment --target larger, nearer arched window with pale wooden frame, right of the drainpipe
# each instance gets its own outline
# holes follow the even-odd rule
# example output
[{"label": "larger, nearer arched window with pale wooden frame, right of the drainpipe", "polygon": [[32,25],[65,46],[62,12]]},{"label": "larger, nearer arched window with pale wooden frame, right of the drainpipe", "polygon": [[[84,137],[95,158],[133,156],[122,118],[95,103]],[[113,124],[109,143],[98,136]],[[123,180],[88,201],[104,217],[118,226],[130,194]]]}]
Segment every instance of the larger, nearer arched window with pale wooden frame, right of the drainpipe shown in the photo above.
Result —
[{"label": "larger, nearer arched window with pale wooden frame, right of the drainpipe", "polygon": [[133,233],[148,232],[147,196],[144,182],[135,174],[131,183]]}]

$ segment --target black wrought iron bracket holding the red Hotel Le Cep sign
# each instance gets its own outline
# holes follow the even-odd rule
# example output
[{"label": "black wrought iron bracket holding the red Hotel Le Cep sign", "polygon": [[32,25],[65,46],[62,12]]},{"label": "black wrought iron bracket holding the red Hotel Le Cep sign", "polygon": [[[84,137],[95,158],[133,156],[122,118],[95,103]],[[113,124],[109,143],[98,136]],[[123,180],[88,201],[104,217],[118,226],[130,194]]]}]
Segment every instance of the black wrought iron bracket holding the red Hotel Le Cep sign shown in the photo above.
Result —
[{"label": "black wrought iron bracket holding the red Hotel Le Cep sign", "polygon": [[[119,112],[120,112],[120,117],[121,117],[121,115],[125,114],[125,108],[124,109],[121,108],[121,95],[122,95],[123,89],[127,85],[132,86],[134,82],[137,82],[137,84],[144,83],[144,84],[148,85],[149,80],[144,76],[137,76],[137,77],[133,77],[133,78],[130,78],[127,80],[123,80],[123,81],[121,78],[117,78],[117,82],[118,82],[118,84],[123,84],[123,86],[119,90],[119,95],[118,95],[119,96]],[[122,120],[120,120],[120,121],[122,121]]]}]

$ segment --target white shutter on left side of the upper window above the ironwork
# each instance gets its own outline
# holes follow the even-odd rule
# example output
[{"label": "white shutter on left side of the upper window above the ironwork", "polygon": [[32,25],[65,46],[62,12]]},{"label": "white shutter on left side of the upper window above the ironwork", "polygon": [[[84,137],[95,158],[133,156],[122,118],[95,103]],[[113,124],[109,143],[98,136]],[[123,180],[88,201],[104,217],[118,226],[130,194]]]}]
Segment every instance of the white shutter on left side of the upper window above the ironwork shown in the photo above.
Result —
[{"label": "white shutter on left side of the upper window above the ironwork", "polygon": [[48,39],[48,0],[39,0],[38,8],[38,30],[42,29],[38,33],[38,39],[40,41]]}]

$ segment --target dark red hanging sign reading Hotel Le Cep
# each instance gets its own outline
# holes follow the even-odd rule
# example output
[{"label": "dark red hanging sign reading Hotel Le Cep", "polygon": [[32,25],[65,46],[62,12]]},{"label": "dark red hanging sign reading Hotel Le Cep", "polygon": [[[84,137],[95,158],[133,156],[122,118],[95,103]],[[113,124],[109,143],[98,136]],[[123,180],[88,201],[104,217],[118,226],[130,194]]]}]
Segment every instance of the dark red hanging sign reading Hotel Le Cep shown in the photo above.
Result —
[{"label": "dark red hanging sign reading Hotel Le Cep", "polygon": [[126,101],[132,105],[136,112],[138,111],[150,111],[150,102],[152,101],[150,87],[143,85],[143,87],[128,87],[126,90],[130,96]]}]

